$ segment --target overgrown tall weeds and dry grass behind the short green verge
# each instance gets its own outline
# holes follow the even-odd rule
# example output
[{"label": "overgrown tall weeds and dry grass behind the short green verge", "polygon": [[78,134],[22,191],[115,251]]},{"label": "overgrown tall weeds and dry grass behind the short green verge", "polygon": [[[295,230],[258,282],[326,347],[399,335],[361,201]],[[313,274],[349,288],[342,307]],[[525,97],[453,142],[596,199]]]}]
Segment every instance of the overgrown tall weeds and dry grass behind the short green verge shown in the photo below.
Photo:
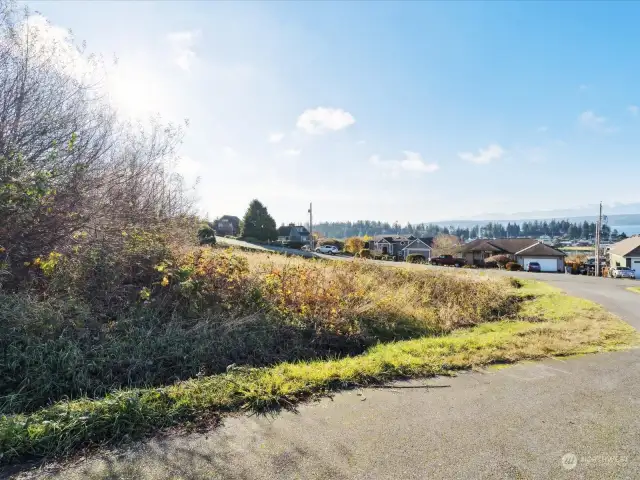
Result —
[{"label": "overgrown tall weeds and dry grass behind the short green verge", "polygon": [[31,266],[37,290],[0,292],[0,413],[232,363],[360,353],[515,306],[497,281],[368,263],[181,249],[142,233],[114,247],[122,259],[95,249]]}]

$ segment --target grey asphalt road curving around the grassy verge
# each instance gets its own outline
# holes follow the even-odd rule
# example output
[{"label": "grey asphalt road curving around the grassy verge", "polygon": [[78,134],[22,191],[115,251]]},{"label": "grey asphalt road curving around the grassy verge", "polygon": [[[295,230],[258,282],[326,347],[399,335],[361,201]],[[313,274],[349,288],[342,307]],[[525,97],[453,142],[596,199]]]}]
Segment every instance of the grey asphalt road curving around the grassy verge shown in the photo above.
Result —
[{"label": "grey asphalt road curving around the grassy verge", "polygon": [[[634,281],[517,273],[640,328]],[[640,350],[397,383],[93,456],[59,479],[640,478]],[[439,388],[425,388],[431,385]],[[563,460],[564,459],[564,460]]]}]

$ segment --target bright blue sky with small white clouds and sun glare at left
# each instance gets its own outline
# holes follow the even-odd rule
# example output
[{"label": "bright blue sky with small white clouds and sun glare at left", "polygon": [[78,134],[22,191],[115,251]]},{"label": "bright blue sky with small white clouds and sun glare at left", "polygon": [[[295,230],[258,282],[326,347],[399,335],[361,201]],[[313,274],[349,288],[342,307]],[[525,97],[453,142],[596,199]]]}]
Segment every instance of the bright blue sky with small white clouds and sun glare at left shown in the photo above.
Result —
[{"label": "bright blue sky with small white clouds and sun glare at left", "polygon": [[118,57],[123,115],[189,118],[176,168],[211,218],[640,202],[638,3],[28,5]]}]

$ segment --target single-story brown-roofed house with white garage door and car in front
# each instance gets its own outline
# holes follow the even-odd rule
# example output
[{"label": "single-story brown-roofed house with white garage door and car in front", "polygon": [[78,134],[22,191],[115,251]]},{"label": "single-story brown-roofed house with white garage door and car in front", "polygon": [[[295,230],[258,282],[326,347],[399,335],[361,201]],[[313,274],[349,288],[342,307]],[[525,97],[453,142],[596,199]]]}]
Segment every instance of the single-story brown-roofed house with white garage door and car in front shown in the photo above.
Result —
[{"label": "single-story brown-roofed house with white garage door and car in front", "polygon": [[482,265],[493,255],[508,255],[525,269],[530,262],[538,262],[543,272],[562,272],[566,256],[535,238],[479,238],[463,245],[461,253],[469,265]]}]

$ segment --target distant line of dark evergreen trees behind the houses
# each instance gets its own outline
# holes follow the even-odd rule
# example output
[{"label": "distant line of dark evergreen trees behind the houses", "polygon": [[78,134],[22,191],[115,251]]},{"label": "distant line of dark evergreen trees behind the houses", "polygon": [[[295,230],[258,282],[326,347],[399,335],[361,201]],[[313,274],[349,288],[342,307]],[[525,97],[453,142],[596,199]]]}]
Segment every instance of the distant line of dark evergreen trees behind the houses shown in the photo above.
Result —
[{"label": "distant line of dark evergreen trees behind the houses", "polygon": [[[326,237],[348,238],[374,235],[415,235],[435,237],[440,234],[456,235],[463,240],[474,238],[500,237],[563,237],[571,240],[590,239],[596,234],[595,222],[570,222],[569,220],[530,220],[524,222],[488,222],[484,225],[472,227],[443,226],[435,223],[417,223],[401,225],[398,222],[380,222],[358,220],[356,222],[321,222],[313,226],[314,231]],[[626,238],[624,233],[611,230],[608,225],[602,227],[602,238],[617,240]]]}]

